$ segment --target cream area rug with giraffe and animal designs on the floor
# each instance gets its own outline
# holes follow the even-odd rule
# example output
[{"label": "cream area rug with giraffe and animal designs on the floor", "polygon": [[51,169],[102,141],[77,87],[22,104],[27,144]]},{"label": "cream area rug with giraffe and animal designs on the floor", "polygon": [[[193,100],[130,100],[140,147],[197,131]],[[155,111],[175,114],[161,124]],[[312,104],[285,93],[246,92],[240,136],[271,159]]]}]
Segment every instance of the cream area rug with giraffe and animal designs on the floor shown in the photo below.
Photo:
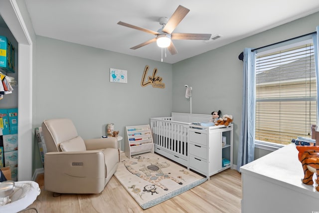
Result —
[{"label": "cream area rug with giraffe and animal designs on the floor", "polygon": [[206,181],[206,178],[153,153],[121,155],[114,174],[135,201],[148,209]]}]

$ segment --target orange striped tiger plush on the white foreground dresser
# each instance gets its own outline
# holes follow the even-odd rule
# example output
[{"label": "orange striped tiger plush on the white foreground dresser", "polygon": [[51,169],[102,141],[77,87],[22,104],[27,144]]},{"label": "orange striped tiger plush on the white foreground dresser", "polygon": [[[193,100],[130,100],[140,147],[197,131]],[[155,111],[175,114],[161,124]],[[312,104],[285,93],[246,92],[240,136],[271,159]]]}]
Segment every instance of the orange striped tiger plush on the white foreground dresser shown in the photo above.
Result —
[{"label": "orange striped tiger plush on the white foreground dresser", "polygon": [[[316,174],[316,183],[319,184],[319,146],[296,146],[296,148],[305,174],[303,183],[313,185],[313,176]],[[319,186],[316,190],[319,192]]]}]

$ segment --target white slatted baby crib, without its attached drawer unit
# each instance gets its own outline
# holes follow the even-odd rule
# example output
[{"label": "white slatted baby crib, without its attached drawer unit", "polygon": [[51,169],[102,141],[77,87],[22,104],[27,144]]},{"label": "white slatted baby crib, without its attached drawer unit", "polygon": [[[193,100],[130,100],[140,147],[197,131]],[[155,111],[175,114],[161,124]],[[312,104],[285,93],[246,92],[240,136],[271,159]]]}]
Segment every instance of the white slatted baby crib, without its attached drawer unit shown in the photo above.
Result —
[{"label": "white slatted baby crib, without its attached drawer unit", "polygon": [[187,132],[190,123],[208,122],[212,115],[172,112],[171,117],[151,118],[154,151],[188,166]]}]

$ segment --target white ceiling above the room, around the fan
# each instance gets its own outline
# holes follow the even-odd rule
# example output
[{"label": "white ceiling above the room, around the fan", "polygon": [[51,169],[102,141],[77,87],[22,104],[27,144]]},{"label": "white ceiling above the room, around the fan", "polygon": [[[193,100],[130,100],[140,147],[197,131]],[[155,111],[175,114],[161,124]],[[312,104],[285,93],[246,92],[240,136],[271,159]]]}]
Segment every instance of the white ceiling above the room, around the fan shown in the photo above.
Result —
[{"label": "white ceiling above the room, around the fan", "polygon": [[181,4],[190,12],[173,32],[221,35],[209,42],[173,40],[175,63],[244,37],[319,11],[319,0],[25,0],[37,35],[160,61],[155,37],[118,25],[118,21],[157,31],[159,18],[168,18]]}]

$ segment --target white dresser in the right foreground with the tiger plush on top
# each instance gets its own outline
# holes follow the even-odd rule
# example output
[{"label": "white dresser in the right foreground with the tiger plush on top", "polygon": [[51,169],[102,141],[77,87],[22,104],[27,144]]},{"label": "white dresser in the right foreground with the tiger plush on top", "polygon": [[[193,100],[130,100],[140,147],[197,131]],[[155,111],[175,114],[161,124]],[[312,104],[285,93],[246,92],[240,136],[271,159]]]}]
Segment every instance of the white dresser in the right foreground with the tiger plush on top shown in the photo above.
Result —
[{"label": "white dresser in the right foreground with the tiger plush on top", "polygon": [[242,213],[319,213],[319,192],[302,183],[295,144],[240,168]]}]

